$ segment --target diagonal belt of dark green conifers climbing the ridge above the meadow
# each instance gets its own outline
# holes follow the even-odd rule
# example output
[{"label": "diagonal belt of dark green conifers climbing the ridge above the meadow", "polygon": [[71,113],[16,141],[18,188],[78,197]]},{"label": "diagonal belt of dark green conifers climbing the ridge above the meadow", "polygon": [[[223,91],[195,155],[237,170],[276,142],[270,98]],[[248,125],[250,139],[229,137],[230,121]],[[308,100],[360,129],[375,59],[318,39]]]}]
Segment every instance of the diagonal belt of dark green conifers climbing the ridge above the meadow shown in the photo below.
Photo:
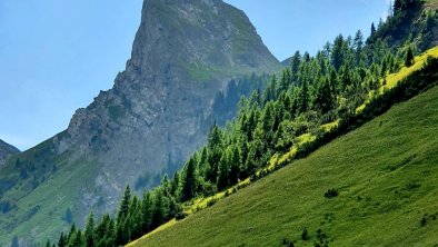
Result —
[{"label": "diagonal belt of dark green conifers climbing the ridge above the meadow", "polygon": [[[242,97],[232,121],[223,127],[220,127],[223,122],[212,125],[208,144],[180,171],[165,175],[159,187],[145,191],[141,197],[133,195],[128,186],[116,215],[97,218],[90,213],[83,229],[72,224],[70,231],[46,246],[125,245],[170,219],[187,217],[185,207],[193,199],[229,188],[236,190],[240,181],[255,181],[290,161],[276,162],[272,170],[263,169],[272,164],[272,156],[296,147],[295,158],[303,157],[381,115],[394,103],[437,83],[438,59],[430,57],[422,69],[381,90],[387,75],[411,67],[415,56],[426,49],[424,40],[396,42],[402,36],[397,27],[418,4],[418,1],[397,0],[392,16],[377,27],[372,24],[368,39],[360,30],[354,37],[339,34],[316,56],[297,51],[290,65],[268,80],[265,76],[247,78],[257,85],[267,80],[263,90]],[[437,24],[436,13],[426,24],[425,39]],[[238,88],[239,82],[232,87]],[[221,92],[219,99],[237,98],[230,96],[233,91]],[[220,110],[221,103],[217,106]],[[305,137],[307,141],[302,141]]]}]

